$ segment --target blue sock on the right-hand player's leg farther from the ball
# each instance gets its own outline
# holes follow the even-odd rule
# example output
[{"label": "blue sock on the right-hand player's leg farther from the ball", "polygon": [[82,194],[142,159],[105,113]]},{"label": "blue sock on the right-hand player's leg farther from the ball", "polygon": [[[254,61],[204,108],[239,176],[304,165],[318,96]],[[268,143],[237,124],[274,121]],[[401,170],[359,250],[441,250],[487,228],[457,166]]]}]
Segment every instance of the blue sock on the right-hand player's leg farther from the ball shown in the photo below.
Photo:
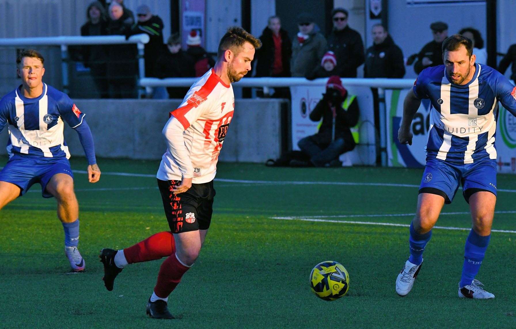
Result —
[{"label": "blue sock on the right-hand player's leg farther from the ball", "polygon": [[471,285],[482,260],[486,255],[487,246],[491,235],[481,236],[478,235],[473,229],[470,235],[467,236],[466,245],[464,246],[464,265],[462,266],[462,275],[460,277],[460,287]]}]

